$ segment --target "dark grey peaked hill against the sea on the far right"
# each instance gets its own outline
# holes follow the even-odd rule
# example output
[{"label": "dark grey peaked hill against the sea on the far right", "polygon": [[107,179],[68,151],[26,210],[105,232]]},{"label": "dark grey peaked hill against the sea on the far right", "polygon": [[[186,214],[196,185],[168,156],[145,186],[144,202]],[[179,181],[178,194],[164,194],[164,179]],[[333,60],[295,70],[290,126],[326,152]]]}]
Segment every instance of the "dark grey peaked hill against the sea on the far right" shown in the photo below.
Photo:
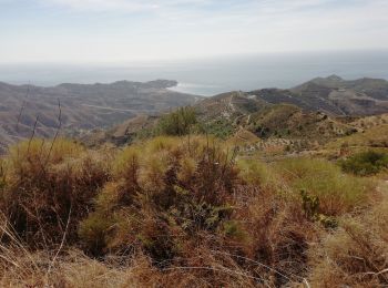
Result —
[{"label": "dark grey peaked hill against the sea on the far right", "polygon": [[289,90],[264,89],[248,93],[268,103],[294,104],[335,116],[365,116],[388,112],[388,81],[346,81],[337,75],[317,78]]}]

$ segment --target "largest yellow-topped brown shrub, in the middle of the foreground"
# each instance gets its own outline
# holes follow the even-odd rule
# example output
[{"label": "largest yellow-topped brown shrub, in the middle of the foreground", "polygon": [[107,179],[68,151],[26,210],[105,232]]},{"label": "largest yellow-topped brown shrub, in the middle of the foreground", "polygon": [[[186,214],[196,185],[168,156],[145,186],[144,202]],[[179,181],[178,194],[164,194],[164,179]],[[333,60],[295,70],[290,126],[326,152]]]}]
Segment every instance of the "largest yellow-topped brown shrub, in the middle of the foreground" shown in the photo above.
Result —
[{"label": "largest yellow-topped brown shrub, in the middle of the foreground", "polygon": [[[94,255],[130,246],[156,263],[167,260],[177,253],[176,235],[195,238],[201,230],[221,232],[232,215],[238,172],[233,153],[213,140],[156,137],[142,148],[118,153],[112,167],[112,182],[99,193],[94,212],[79,230]],[[108,218],[115,219],[114,225]],[[157,240],[167,235],[166,241]]]}]

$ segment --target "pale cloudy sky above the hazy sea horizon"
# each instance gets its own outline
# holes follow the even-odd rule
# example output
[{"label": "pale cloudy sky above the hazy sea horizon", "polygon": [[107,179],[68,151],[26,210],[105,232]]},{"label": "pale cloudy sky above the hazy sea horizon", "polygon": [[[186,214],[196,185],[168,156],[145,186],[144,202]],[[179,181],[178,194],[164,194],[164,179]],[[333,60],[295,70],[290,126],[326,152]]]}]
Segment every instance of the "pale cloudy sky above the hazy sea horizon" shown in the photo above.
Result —
[{"label": "pale cloudy sky above the hazy sea horizon", "polygon": [[388,49],[388,0],[0,0],[0,62]]}]

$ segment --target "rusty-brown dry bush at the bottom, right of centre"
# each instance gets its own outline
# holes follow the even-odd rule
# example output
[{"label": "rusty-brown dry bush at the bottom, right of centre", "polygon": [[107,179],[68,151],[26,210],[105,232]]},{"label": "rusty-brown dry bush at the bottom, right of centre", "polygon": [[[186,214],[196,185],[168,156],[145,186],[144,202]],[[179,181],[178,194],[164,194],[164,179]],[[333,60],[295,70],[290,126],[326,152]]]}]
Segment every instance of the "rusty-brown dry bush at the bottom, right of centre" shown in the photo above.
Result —
[{"label": "rusty-brown dry bush at the bottom, right of centre", "polygon": [[268,189],[251,193],[236,204],[239,209],[234,219],[242,224],[245,238],[235,245],[245,258],[258,264],[251,269],[254,276],[267,279],[266,286],[299,281],[307,269],[308,243],[317,240],[318,230],[293,197]]}]

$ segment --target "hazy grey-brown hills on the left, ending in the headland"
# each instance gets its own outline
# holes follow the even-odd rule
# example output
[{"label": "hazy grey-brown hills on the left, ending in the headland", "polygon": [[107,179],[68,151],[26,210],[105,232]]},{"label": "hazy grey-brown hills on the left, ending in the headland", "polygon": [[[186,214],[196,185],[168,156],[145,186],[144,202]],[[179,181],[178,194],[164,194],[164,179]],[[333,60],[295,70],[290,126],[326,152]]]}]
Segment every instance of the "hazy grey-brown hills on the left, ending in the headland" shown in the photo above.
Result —
[{"label": "hazy grey-brown hills on the left, ending in the headland", "polygon": [[59,125],[59,101],[62,131],[71,134],[194,104],[201,99],[169,90],[176,84],[176,81],[156,80],[42,88],[0,82],[0,151],[14,140],[30,137],[37,117],[35,135],[53,136]]}]

